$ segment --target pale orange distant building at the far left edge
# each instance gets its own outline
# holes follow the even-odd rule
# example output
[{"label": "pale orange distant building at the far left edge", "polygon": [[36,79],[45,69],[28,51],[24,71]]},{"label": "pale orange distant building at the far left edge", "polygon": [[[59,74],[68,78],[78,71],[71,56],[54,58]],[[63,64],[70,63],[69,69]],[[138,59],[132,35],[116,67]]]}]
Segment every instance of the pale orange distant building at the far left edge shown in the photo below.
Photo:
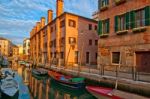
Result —
[{"label": "pale orange distant building at the far left edge", "polygon": [[6,38],[0,37],[0,54],[4,56],[12,55],[11,41]]}]

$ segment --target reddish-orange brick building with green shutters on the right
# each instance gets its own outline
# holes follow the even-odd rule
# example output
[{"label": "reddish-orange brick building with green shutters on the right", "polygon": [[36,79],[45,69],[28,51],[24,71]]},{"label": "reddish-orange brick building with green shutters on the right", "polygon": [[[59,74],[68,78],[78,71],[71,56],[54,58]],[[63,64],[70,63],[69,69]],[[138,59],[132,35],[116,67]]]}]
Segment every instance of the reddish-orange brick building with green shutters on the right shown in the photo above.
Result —
[{"label": "reddish-orange brick building with green shutters on the right", "polygon": [[99,0],[98,64],[150,73],[150,0]]}]

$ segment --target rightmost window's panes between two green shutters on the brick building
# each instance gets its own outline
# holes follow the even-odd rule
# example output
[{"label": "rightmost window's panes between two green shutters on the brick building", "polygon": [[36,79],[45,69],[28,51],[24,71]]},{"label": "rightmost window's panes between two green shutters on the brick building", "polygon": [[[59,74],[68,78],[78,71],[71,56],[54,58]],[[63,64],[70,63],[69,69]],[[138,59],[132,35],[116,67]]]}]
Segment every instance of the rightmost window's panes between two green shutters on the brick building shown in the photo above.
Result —
[{"label": "rightmost window's panes between two green shutters on the brick building", "polygon": [[135,27],[145,26],[145,10],[141,9],[135,12]]}]

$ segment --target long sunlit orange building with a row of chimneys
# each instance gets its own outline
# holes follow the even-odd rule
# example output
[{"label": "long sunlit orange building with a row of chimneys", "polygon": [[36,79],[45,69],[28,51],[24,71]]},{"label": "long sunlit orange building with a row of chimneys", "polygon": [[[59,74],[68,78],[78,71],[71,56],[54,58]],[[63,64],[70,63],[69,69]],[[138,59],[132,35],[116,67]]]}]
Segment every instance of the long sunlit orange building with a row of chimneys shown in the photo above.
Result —
[{"label": "long sunlit orange building with a row of chimneys", "polygon": [[63,0],[56,1],[56,18],[48,11],[30,32],[31,57],[37,63],[96,65],[97,22],[76,14],[63,12]]}]

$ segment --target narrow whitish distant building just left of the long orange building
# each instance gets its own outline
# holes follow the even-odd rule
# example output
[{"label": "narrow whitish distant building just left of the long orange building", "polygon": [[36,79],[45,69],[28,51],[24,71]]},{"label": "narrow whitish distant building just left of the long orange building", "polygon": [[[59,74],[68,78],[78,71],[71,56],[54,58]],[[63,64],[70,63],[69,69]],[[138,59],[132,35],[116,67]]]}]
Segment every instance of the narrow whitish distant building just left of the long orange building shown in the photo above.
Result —
[{"label": "narrow whitish distant building just left of the long orange building", "polygon": [[29,52],[30,52],[30,39],[26,38],[23,41],[23,54],[29,55]]}]

